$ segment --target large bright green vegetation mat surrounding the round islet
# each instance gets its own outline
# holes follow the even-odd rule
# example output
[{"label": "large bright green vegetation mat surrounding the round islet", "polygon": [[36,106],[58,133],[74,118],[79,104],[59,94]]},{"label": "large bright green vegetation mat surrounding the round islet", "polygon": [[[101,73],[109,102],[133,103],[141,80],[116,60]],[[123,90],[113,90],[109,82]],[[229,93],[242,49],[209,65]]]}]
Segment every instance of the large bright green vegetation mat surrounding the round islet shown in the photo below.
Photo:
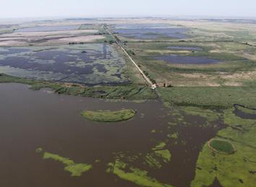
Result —
[{"label": "large bright green vegetation mat surrounding the round islet", "polygon": [[[218,131],[215,139],[233,144],[236,152],[218,154],[205,144],[197,160],[192,187],[210,186],[215,178],[221,186],[254,186],[256,183],[256,120],[239,118],[234,108],[230,108],[224,111],[223,121],[227,127]],[[215,144],[217,149],[232,150],[222,142],[221,148],[219,142]]]}]

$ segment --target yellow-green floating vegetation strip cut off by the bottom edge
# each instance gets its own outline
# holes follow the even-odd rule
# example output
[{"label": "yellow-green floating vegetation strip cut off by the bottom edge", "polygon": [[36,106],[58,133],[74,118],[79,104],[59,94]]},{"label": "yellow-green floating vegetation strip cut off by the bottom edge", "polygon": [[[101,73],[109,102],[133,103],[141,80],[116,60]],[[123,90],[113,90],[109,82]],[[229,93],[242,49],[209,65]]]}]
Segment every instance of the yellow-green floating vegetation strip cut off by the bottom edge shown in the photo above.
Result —
[{"label": "yellow-green floating vegetation strip cut off by the bottom edge", "polygon": [[161,183],[155,178],[150,178],[147,171],[129,167],[129,165],[124,162],[116,160],[114,163],[109,163],[108,166],[108,173],[114,173],[118,175],[119,178],[131,181],[139,186],[170,187],[170,185]]}]

